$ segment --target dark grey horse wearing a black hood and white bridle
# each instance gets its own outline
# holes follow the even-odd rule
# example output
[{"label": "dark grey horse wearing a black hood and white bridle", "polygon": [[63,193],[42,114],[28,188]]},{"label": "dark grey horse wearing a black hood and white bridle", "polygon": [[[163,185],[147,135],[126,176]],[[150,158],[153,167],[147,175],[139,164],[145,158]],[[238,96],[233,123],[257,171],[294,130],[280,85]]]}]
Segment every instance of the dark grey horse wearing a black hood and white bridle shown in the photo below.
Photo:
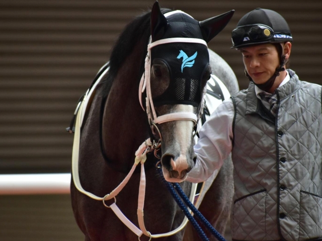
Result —
[{"label": "dark grey horse wearing a black hood and white bridle", "polygon": [[[90,103],[85,107],[83,125],[79,134],[79,150],[77,150],[79,152],[79,155],[77,153],[77,177],[84,190],[104,197],[103,205],[101,201],[79,191],[75,184],[75,170],[72,170],[71,204],[76,223],[84,233],[86,241],[137,240],[137,234],[124,225],[111,208],[107,208],[112,206],[108,202],[113,199],[107,201],[105,197],[133,169],[135,153],[141,143],[144,143],[144,140],[158,140],[159,136],[162,136],[162,142],[158,145],[158,150],[155,150],[156,155],[146,154],[144,164],[141,162],[133,169],[133,175],[129,178],[127,185],[114,200],[123,214],[135,226],[138,226],[136,209],[140,184],[139,166],[141,168],[143,166],[146,179],[144,221],[149,234],[169,232],[177,228],[184,219],[183,212],[168,192],[155,164],[159,162],[158,158],[161,158],[162,171],[168,180],[171,181],[174,177],[184,179],[187,175],[185,170],[191,169],[194,165],[195,117],[182,117],[178,121],[170,120],[154,124],[155,120],[148,119],[147,114],[142,110],[142,107],[146,109],[152,104],[149,103],[145,107],[140,105],[140,97],[137,96],[139,87],[143,100],[147,95],[147,89],[150,89],[155,105],[154,111],[158,116],[173,112],[179,114],[184,112],[189,116],[197,114],[200,107],[196,103],[189,99],[173,99],[173,102],[169,102],[167,93],[169,93],[170,82],[173,81],[171,75],[187,71],[191,75],[191,71],[196,71],[194,66],[198,64],[199,72],[195,74],[198,75],[198,81],[195,81],[196,89],[194,93],[186,94],[190,96],[188,98],[194,94],[196,97],[193,100],[199,101],[198,104],[201,103],[202,92],[210,77],[211,69],[222,79],[230,94],[238,90],[237,81],[228,64],[213,51],[208,52],[205,45],[199,44],[201,41],[209,42],[218,34],[229,22],[232,13],[198,22],[183,12],[165,17],[171,12],[169,9],[160,9],[156,2],[151,11],[138,16],[126,26],[112,50],[108,71],[104,72],[101,81],[92,90],[92,95],[88,100]],[[189,26],[197,29],[191,29]],[[169,38],[180,38],[181,40],[193,38],[198,43],[173,42],[153,47],[151,66],[147,69],[146,55],[149,41],[153,44],[158,40]],[[165,53],[166,57],[169,56],[168,53],[177,49],[178,46],[180,50],[185,51],[185,54],[181,56],[181,52],[171,53],[176,61],[179,61],[179,70],[175,71],[171,65],[172,60],[165,63],[162,56]],[[188,53],[191,46],[198,49],[197,56]],[[153,59],[153,56],[157,55],[159,57]],[[200,58],[197,62],[198,57]],[[190,58],[190,60],[183,64],[184,58],[186,60]],[[146,71],[149,73],[146,74]],[[146,86],[145,91],[142,91],[143,82]],[[193,92],[187,89],[187,86],[192,86],[192,80],[190,85],[185,85],[183,89]],[[175,92],[176,89],[174,88]],[[212,184],[205,185],[204,189],[208,191],[202,194],[202,201],[198,206],[209,222],[220,233],[224,233],[232,199],[231,159],[227,160],[218,174],[214,176],[216,178]],[[187,195],[190,193],[191,185],[187,181],[180,183]],[[139,240],[140,238],[141,240],[150,239],[150,237],[143,236],[139,236]],[[198,240],[198,237],[188,224],[185,229],[176,234],[159,237],[159,240]]]}]

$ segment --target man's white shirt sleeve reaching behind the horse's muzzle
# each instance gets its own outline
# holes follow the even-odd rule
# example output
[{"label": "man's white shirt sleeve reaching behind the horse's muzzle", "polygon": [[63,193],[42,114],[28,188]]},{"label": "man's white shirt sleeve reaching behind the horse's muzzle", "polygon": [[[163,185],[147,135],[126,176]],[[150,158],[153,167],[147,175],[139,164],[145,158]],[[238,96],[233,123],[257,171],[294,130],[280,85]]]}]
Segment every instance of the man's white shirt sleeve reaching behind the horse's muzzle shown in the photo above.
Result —
[{"label": "man's white shirt sleeve reaching behind the horse's muzzle", "polygon": [[224,100],[199,131],[200,139],[194,146],[197,161],[186,178],[190,182],[206,181],[219,169],[232,149],[232,99]]}]

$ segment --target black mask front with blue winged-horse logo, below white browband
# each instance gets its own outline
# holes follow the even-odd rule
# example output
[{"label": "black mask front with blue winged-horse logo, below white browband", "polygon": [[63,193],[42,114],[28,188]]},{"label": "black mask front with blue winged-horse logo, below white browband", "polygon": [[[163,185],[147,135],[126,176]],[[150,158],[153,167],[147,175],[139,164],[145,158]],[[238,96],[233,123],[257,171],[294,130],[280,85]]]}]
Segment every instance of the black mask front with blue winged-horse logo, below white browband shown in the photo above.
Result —
[{"label": "black mask front with blue winged-horse logo, below white browband", "polygon": [[158,45],[151,50],[151,61],[155,58],[168,65],[170,84],[163,94],[152,96],[154,105],[191,104],[198,107],[203,88],[202,76],[209,65],[207,47],[194,43]]}]

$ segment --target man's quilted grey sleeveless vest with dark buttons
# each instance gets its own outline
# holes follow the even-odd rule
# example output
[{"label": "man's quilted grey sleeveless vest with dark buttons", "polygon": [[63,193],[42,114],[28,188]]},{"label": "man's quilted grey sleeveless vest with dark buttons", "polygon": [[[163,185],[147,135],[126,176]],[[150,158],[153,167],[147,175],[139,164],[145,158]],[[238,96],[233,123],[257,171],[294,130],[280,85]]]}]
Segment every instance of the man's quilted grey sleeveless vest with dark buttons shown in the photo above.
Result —
[{"label": "man's quilted grey sleeveless vest with dark buttons", "polygon": [[233,240],[322,240],[321,86],[288,72],[276,117],[253,82],[232,96]]}]

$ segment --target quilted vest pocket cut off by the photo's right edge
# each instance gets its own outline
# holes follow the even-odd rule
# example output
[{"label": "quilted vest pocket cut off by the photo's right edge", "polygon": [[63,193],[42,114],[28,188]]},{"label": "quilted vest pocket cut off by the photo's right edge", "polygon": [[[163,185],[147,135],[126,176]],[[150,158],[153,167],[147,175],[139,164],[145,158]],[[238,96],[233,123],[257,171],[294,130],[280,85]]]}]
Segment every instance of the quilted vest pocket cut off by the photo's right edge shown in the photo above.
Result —
[{"label": "quilted vest pocket cut off by the photo's right edge", "polygon": [[301,191],[299,240],[322,236],[322,197]]}]

